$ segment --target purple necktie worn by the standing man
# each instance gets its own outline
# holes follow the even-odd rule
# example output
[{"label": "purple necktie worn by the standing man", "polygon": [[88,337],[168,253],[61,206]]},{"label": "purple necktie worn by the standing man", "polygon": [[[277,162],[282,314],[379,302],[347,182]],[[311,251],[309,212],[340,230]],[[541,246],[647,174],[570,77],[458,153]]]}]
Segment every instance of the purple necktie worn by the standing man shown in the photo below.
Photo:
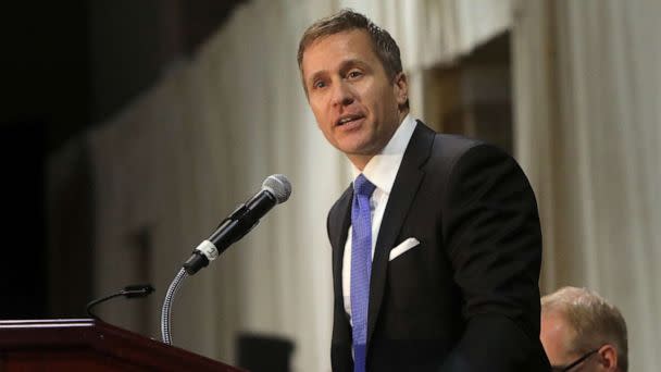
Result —
[{"label": "purple necktie worn by the standing man", "polygon": [[372,214],[370,197],[374,186],[360,174],[353,182],[351,204],[351,323],[353,372],[365,372],[367,354],[367,308],[372,272]]}]

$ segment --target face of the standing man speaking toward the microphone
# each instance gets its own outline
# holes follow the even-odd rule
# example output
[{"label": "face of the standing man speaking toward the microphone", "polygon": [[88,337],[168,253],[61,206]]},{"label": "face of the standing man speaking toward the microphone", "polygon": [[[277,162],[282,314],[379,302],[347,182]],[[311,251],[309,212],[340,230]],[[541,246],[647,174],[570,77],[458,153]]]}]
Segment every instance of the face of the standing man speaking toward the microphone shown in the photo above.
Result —
[{"label": "face of the standing man speaking toward the microphone", "polygon": [[323,37],[301,63],[303,85],[316,123],[330,142],[361,169],[388,142],[406,112],[402,73],[388,78],[364,30]]}]

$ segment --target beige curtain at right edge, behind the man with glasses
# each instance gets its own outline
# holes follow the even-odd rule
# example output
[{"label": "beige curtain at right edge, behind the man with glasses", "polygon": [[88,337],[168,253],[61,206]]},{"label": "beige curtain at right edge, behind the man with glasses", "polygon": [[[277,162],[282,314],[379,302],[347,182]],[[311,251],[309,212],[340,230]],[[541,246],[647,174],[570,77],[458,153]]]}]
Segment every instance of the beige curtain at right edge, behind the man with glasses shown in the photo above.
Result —
[{"label": "beige curtain at right edge, behind the man with glasses", "polygon": [[517,152],[546,240],[544,289],[597,289],[623,311],[632,371],[661,358],[661,3],[520,1]]}]

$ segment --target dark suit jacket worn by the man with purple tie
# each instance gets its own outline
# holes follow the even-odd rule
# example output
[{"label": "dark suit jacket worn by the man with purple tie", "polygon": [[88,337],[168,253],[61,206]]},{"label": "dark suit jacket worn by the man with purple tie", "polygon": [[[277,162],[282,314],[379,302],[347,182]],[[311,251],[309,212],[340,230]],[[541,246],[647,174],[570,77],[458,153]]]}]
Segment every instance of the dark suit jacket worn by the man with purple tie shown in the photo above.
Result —
[{"label": "dark suit jacket worn by the man with purple tie", "polygon": [[[353,369],[341,286],[352,194],[349,186],[328,213],[336,372]],[[420,245],[389,261],[409,237]],[[540,263],[537,203],[516,162],[417,122],[376,239],[367,371],[549,371]]]}]

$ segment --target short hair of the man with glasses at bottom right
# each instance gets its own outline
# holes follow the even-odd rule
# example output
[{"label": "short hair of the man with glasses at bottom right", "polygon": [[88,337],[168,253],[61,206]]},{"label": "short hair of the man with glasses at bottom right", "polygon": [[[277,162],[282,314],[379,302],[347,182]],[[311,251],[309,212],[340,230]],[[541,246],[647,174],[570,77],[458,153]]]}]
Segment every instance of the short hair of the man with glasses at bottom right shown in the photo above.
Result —
[{"label": "short hair of the man with glasses at bottom right", "polygon": [[585,288],[564,287],[541,298],[541,313],[561,314],[575,332],[571,348],[588,352],[603,344],[618,350],[618,367],[628,369],[626,323],[620,310],[596,292]]}]

